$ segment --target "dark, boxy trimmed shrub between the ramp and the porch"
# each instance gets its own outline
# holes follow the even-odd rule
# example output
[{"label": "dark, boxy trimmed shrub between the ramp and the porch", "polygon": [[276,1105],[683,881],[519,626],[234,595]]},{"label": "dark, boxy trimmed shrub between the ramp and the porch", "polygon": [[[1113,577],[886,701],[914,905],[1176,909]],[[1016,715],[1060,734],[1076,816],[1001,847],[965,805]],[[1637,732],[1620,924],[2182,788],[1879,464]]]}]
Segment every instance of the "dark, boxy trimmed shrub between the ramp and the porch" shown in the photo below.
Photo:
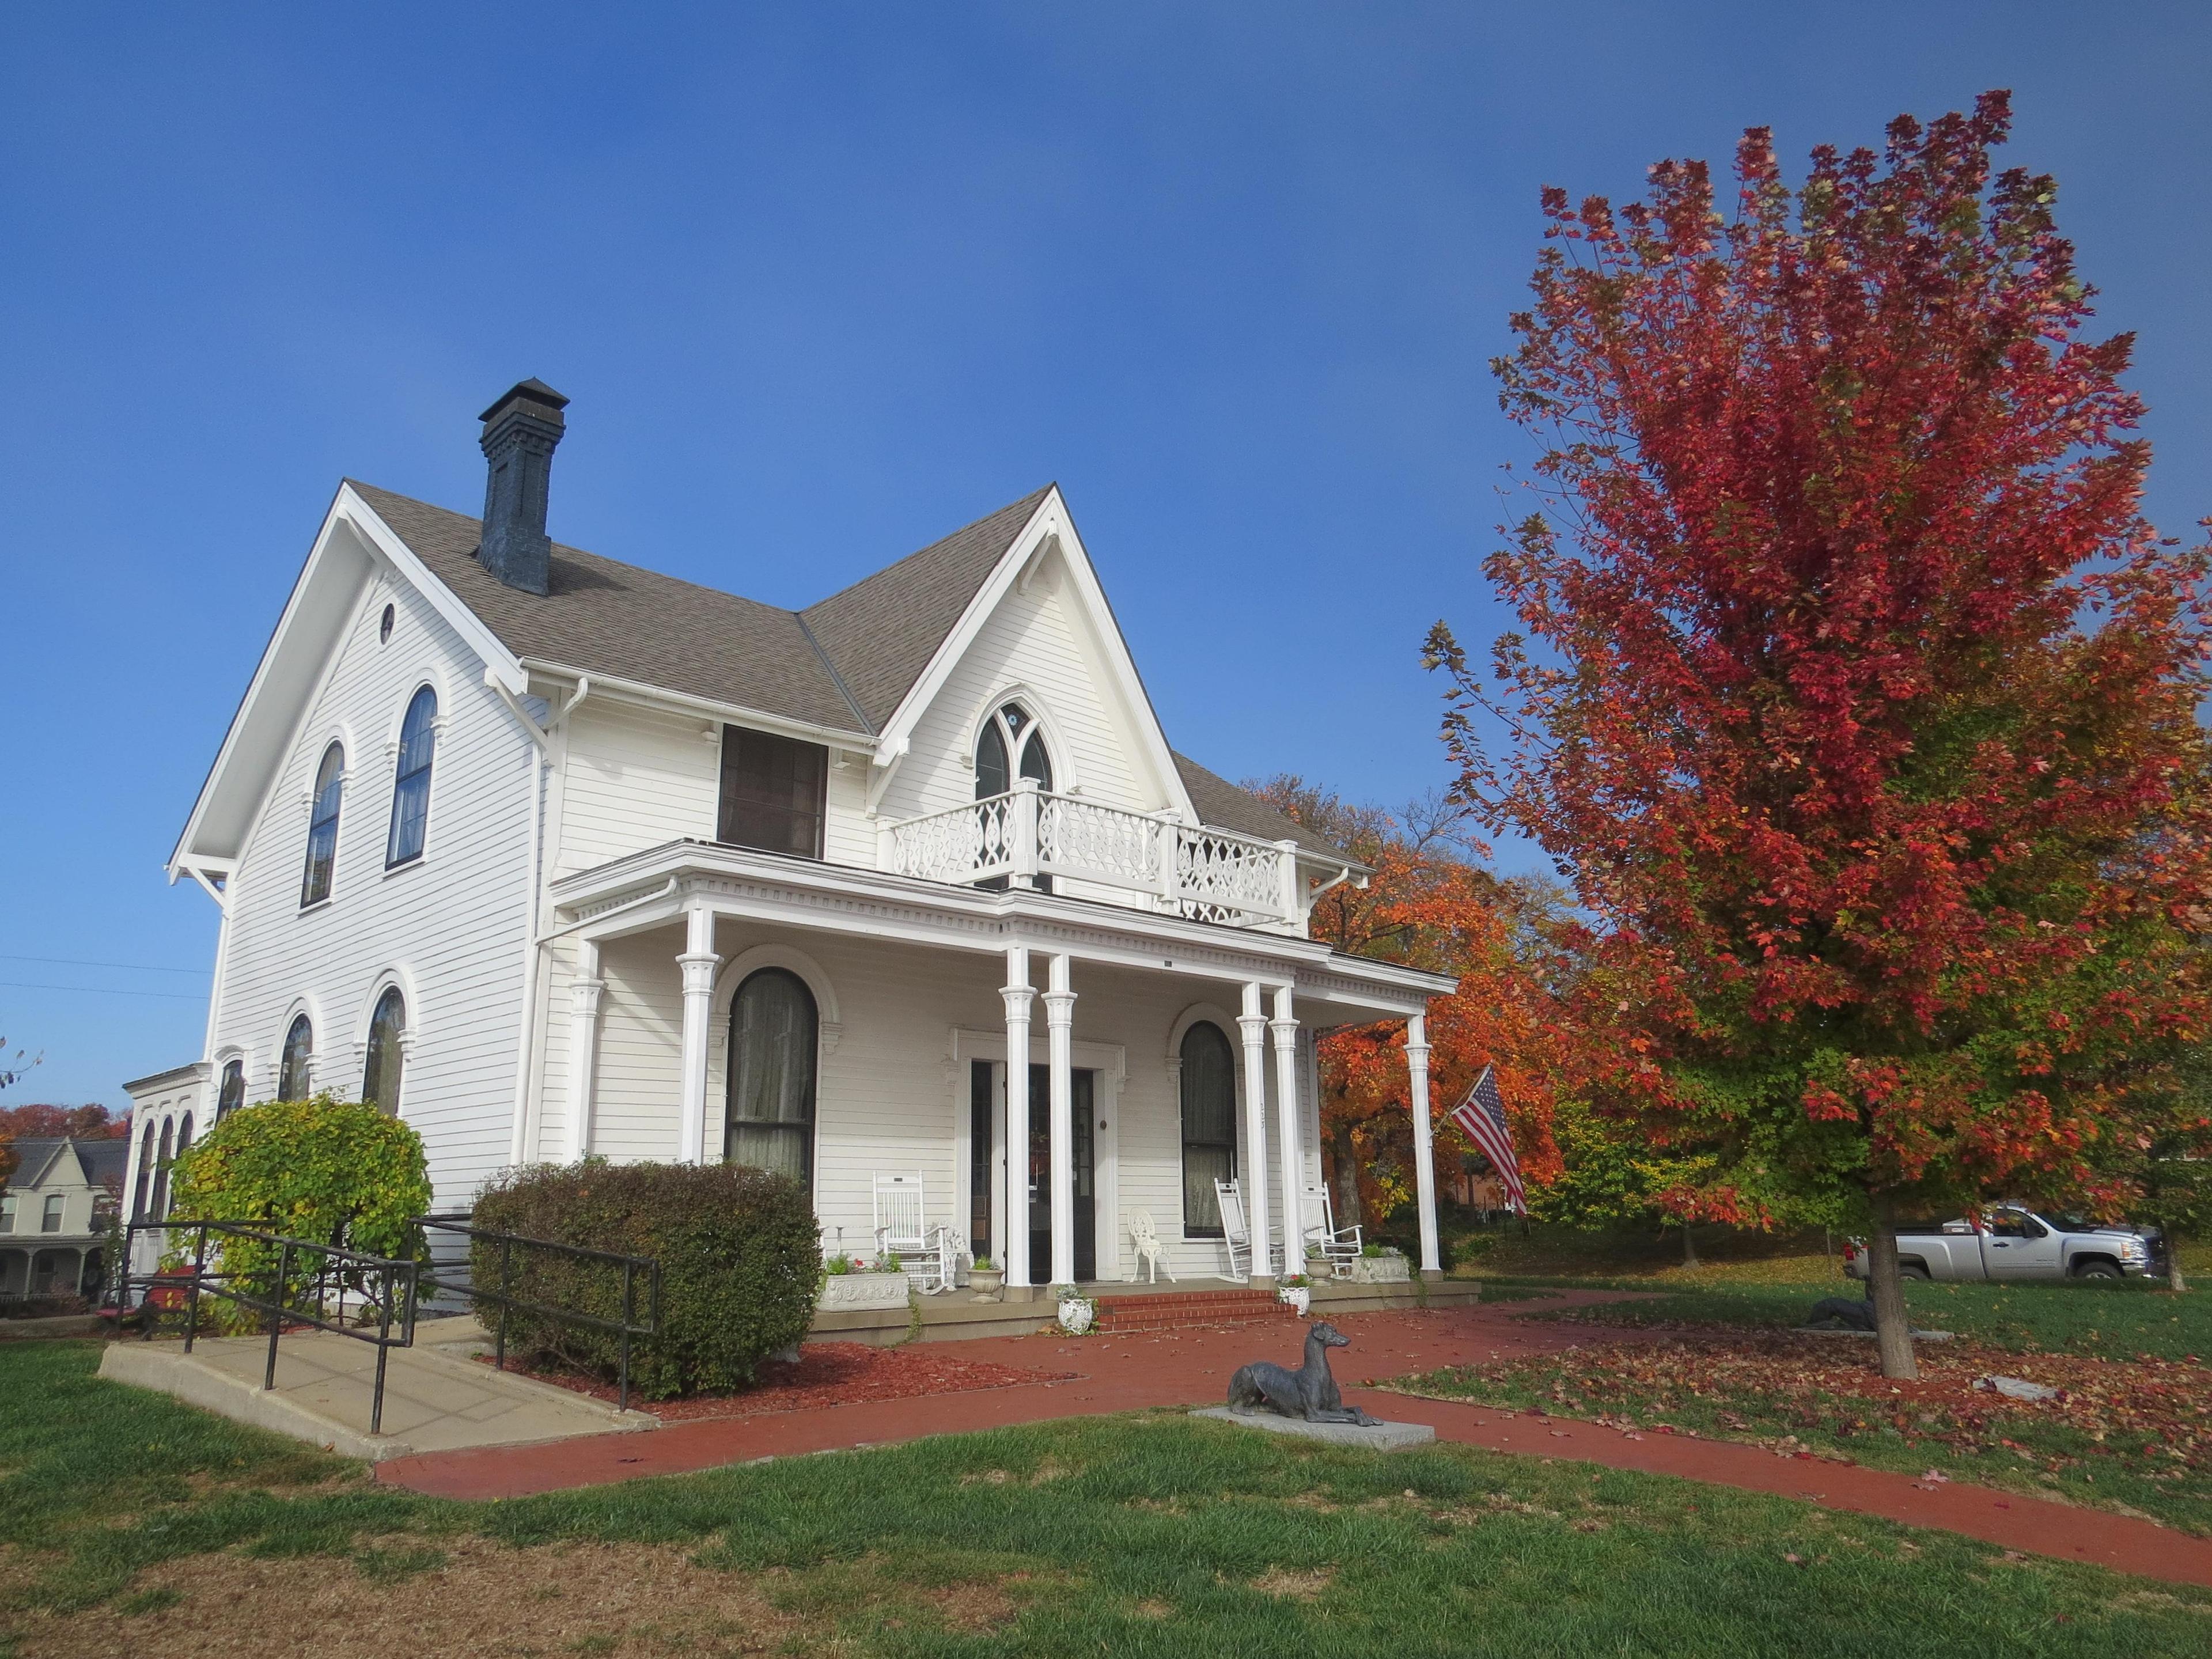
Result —
[{"label": "dark, boxy trimmed shrub between the ramp and the porch", "polygon": [[[739,1389],[763,1358],[814,1323],[823,1276],[821,1228],[805,1188],[737,1164],[568,1164],[500,1175],[476,1201],[476,1225],[529,1239],[615,1250],[661,1263],[661,1329],[630,1352],[630,1387],[648,1400]],[[500,1285],[495,1243],[478,1241],[471,1274]],[[622,1270],[513,1250],[513,1296],[622,1321]],[[646,1281],[637,1283],[639,1321]],[[493,1305],[482,1307],[489,1325]],[[538,1314],[507,1314],[507,1343],[613,1376],[619,1336]]]}]

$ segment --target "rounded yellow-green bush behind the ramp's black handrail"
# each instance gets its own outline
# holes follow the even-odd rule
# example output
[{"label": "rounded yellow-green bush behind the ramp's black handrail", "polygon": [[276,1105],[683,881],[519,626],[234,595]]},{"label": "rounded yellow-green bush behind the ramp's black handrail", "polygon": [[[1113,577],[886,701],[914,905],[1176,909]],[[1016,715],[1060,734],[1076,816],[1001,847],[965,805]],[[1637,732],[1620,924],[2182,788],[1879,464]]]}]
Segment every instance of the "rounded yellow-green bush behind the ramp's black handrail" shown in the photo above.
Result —
[{"label": "rounded yellow-green bush behind the ramp's black handrail", "polygon": [[[429,1208],[422,1137],[376,1106],[332,1095],[272,1099],[230,1113],[173,1172],[170,1221],[239,1221],[285,1239],[345,1245],[372,1256],[427,1261],[411,1221]],[[166,1265],[184,1263],[184,1234]],[[210,1239],[210,1265],[248,1294],[276,1287],[274,1245]],[[299,1298],[319,1259],[294,1252],[285,1298]],[[254,1329],[261,1316],[201,1301],[223,1329]]]}]

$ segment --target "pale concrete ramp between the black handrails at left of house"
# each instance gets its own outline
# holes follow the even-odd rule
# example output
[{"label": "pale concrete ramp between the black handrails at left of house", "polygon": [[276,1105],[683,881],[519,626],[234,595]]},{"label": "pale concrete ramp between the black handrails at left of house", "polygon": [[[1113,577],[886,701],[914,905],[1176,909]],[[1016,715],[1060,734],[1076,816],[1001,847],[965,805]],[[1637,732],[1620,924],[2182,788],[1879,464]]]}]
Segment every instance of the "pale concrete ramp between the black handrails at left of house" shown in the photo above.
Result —
[{"label": "pale concrete ramp between the black handrails at left of house", "polygon": [[577,1436],[657,1429],[644,1411],[615,1411],[582,1394],[495,1371],[471,1358],[489,1340],[471,1318],[422,1321],[414,1347],[385,1363],[383,1433],[369,1433],[376,1347],[332,1332],[276,1343],[276,1387],[261,1389],[265,1336],[108,1343],[100,1376],[159,1389],[237,1422],[310,1440],[345,1458],[385,1462],[478,1447],[524,1447]]}]

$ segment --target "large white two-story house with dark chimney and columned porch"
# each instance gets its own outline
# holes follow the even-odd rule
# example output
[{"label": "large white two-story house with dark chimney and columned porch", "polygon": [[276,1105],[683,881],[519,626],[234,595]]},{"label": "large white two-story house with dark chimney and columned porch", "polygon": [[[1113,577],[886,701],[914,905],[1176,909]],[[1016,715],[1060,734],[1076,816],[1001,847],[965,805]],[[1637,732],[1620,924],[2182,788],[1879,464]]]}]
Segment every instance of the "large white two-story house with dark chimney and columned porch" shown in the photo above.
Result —
[{"label": "large white two-story house with dark chimney and columned porch", "polygon": [[186,1106],[330,1088],[422,1133],[440,1206],[739,1159],[860,1252],[918,1172],[1020,1287],[1133,1272],[1137,1210],[1219,1272],[1230,1172],[1279,1234],[1318,1031],[1413,1020],[1427,1099],[1451,980],[1305,936],[1367,872],[1168,748],[1057,487],[781,611],[549,542],[564,405],[482,416],[482,520],[338,487],[170,856],[223,922],[148,1181]]}]

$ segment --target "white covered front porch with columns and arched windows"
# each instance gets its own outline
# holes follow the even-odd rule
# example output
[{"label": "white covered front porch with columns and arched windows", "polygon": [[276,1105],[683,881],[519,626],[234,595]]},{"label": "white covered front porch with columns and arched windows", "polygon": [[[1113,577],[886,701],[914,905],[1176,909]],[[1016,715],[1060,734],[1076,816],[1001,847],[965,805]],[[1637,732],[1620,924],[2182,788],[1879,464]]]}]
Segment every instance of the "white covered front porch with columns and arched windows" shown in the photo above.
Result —
[{"label": "white covered front porch with columns and arched windows", "polygon": [[[675,843],[555,887],[549,1022],[518,1161],[737,1159],[876,1254],[880,1177],[920,1183],[1006,1303],[1267,1290],[1318,1225],[1314,1040],[1407,1020],[1420,1267],[1438,1270],[1422,1009],[1451,980],[1312,940],[1035,889]],[[1234,1179],[1248,1248],[1214,1206]],[[1150,1263],[1146,1263],[1150,1267]],[[931,1298],[938,1301],[938,1298]],[[967,1296],[962,1296],[967,1301]],[[1013,1312],[1009,1307],[1009,1312]]]}]

